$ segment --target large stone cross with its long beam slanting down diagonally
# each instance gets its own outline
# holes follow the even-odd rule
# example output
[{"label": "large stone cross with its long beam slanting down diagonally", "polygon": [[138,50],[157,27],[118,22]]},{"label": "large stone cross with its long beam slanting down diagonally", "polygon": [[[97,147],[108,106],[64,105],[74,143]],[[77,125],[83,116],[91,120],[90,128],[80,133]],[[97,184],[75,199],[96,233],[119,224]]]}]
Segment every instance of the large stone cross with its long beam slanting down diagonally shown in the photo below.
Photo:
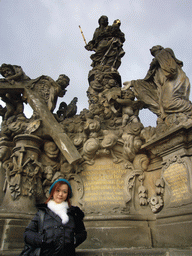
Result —
[{"label": "large stone cross with its long beam slanting down diagonally", "polygon": [[[32,80],[30,80],[32,81]],[[70,138],[64,133],[62,126],[56,121],[53,114],[49,111],[46,103],[39,97],[35,90],[27,88],[29,81],[15,82],[13,85],[5,79],[0,79],[0,94],[22,93],[27,97],[27,102],[32,109],[40,116],[43,125],[47,128],[60,151],[67,161],[71,164],[81,159],[81,156]]]}]

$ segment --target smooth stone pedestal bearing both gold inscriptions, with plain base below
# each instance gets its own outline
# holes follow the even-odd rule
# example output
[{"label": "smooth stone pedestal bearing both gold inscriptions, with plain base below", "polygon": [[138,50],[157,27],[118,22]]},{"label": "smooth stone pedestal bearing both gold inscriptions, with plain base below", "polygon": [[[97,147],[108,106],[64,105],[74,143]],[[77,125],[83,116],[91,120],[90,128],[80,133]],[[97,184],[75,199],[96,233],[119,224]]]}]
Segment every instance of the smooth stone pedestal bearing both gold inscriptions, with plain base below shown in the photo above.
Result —
[{"label": "smooth stone pedestal bearing both gold inscriptions, with plain base below", "polygon": [[[139,203],[140,171],[135,170],[135,176],[132,175],[132,170],[121,162],[114,163],[110,155],[96,156],[94,164],[83,165],[77,175],[79,186],[75,187],[76,181],[71,177],[75,198],[86,214],[88,233],[78,255],[90,255],[93,251],[93,255],[105,255],[106,250],[114,253],[111,255],[121,255],[119,250],[126,253],[138,247],[180,250],[192,247],[192,126],[180,126],[157,137],[145,144],[142,152],[151,159],[143,181],[148,190],[147,205]],[[127,183],[127,177],[131,182]],[[161,193],[163,206],[153,212],[151,204],[158,203],[159,179],[165,183]],[[23,231],[32,215],[1,213],[0,218],[2,250],[21,250]]]}]

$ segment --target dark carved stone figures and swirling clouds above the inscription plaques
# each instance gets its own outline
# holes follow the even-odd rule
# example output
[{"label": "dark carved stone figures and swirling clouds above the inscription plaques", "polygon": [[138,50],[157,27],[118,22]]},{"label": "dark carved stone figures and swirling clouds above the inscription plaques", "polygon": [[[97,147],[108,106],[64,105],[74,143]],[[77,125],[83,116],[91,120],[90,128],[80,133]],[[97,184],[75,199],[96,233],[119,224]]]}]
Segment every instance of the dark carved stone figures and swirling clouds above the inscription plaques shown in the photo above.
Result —
[{"label": "dark carved stone figures and swirling clouds above the inscription plaques", "polygon": [[[5,170],[0,186],[8,194],[5,205],[19,197],[43,201],[50,184],[58,178],[74,180],[83,189],[79,176],[82,166],[93,165],[96,156],[110,155],[115,163],[123,161],[125,168],[138,168],[139,162],[144,171],[146,167],[142,167],[138,155],[147,163],[149,160],[143,157],[141,146],[176,125],[192,121],[190,82],[182,70],[183,62],[170,48],[153,46],[150,49],[153,59],[146,76],[125,82],[122,88],[118,68],[125,54],[125,35],[120,25],[119,19],[109,25],[108,18],[101,16],[99,27],[85,46],[94,53],[88,75],[89,109],[83,109],[79,115],[77,97],[68,105],[62,102],[55,111],[57,98],[65,95],[69,85],[66,75],[60,75],[56,81],[48,76],[30,79],[20,66],[1,65],[0,95],[6,106],[0,107],[3,119],[0,161]],[[79,152],[79,164],[68,163],[61,154],[54,134],[42,121],[40,107],[34,109],[31,118],[24,115],[24,103],[36,102],[31,96],[33,92]],[[157,115],[157,127],[143,127],[139,119],[143,108]],[[31,154],[29,141],[34,140],[35,153]],[[120,153],[116,150],[119,146]],[[82,195],[83,192],[75,199],[80,205],[83,205]]]}]

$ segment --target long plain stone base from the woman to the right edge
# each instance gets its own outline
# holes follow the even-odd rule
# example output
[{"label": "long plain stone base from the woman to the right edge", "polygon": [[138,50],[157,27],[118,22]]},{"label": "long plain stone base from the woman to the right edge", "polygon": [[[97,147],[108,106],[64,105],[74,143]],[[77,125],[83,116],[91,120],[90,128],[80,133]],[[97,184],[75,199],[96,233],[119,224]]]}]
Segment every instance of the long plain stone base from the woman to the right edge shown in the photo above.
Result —
[{"label": "long plain stone base from the woman to the right edge", "polygon": [[87,240],[79,248],[89,251],[192,247],[192,212],[185,211],[183,215],[157,216],[157,219],[137,215],[86,217]]}]

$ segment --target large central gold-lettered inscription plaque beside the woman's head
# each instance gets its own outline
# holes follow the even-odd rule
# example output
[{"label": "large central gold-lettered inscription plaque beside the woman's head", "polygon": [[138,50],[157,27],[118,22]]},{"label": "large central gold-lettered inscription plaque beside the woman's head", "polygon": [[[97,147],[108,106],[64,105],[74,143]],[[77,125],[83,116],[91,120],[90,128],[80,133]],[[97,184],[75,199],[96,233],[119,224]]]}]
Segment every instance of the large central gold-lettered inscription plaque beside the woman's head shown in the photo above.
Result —
[{"label": "large central gold-lettered inscription plaque beside the woman's head", "polygon": [[84,183],[84,207],[100,212],[105,209],[124,208],[124,176],[126,170],[108,158],[96,159],[86,165],[81,177]]}]

